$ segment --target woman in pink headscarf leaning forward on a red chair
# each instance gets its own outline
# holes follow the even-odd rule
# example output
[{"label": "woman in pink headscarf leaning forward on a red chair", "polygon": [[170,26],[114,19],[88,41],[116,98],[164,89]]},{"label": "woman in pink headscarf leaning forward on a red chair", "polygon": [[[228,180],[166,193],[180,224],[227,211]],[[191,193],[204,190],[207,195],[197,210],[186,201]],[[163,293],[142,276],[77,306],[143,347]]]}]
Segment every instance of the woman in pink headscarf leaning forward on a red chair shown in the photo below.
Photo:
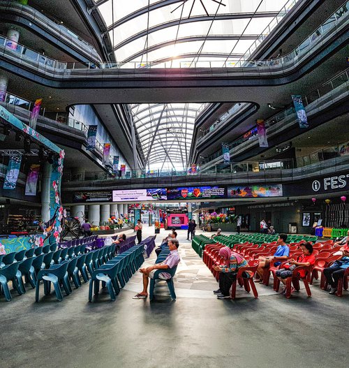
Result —
[{"label": "woman in pink headscarf leaning forward on a red chair", "polygon": [[[232,251],[229,246],[224,246],[219,251],[219,256],[225,260],[224,265],[214,265],[215,271],[220,272],[219,274],[219,288],[214,290],[214,294],[217,295],[218,299],[230,298],[229,290],[232,286],[232,282],[237,279],[237,271],[241,267],[248,267],[246,259],[242,258],[238,253]],[[250,271],[243,272],[243,277],[251,277]]]}]

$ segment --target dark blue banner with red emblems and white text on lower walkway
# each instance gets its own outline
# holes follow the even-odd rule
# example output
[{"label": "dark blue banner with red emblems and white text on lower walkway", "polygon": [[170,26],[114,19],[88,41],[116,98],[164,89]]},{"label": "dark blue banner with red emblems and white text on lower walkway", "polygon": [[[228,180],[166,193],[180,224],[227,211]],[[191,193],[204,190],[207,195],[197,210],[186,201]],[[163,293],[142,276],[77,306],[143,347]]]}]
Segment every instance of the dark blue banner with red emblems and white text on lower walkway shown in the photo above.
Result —
[{"label": "dark blue banner with red emblems and white text on lower walkway", "polygon": [[168,200],[225,198],[225,189],[219,186],[193,186],[168,189]]}]

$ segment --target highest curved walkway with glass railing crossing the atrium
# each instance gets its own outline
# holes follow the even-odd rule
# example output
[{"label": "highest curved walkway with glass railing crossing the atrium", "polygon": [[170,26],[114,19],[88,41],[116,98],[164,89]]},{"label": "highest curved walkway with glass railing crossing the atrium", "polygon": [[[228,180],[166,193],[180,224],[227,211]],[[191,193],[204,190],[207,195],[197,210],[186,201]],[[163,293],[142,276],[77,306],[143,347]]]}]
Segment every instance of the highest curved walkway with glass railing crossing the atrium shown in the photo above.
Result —
[{"label": "highest curved walkway with glass railing crossing the atrium", "polygon": [[[227,64],[191,64],[186,68],[123,68],[116,64],[89,64],[75,68],[43,57],[27,47],[10,50],[6,38],[0,38],[0,68],[34,80],[43,87],[59,89],[57,97],[66,105],[77,103],[131,102],[202,102],[251,101],[258,104],[285,89],[297,90],[311,83],[312,72],[322,64],[338,67],[346,55],[349,39],[349,11],[337,10],[325,24],[290,54],[274,60],[240,61],[235,67]],[[30,52],[29,52],[30,51]],[[336,60],[332,56],[336,54]],[[215,67],[217,66],[217,67]],[[327,64],[325,69],[328,69]],[[321,71],[320,71],[321,73]],[[299,78],[302,78],[302,84]],[[258,87],[258,88],[253,88]],[[108,93],[98,93],[107,90]],[[144,92],[147,93],[144,93]],[[96,93],[95,93],[96,92]]]}]

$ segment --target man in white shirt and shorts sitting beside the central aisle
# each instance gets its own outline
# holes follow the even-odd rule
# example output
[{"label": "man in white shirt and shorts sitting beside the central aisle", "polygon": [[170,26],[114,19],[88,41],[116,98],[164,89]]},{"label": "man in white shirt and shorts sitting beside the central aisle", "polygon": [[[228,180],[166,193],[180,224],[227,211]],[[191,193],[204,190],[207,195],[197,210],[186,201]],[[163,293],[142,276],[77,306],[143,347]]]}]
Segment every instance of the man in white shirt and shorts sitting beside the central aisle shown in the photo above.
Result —
[{"label": "man in white shirt and shorts sitting beside the central aisle", "polygon": [[170,248],[170,254],[162,263],[140,269],[140,272],[143,274],[143,290],[136,294],[133,299],[145,299],[148,296],[149,277],[153,279],[156,270],[164,270],[164,272],[161,272],[159,275],[160,279],[167,280],[171,278],[171,275],[168,272],[165,272],[165,270],[177,266],[181,258],[179,258],[179,253],[177,250],[179,247],[179,242],[177,239],[169,240],[168,246]]}]

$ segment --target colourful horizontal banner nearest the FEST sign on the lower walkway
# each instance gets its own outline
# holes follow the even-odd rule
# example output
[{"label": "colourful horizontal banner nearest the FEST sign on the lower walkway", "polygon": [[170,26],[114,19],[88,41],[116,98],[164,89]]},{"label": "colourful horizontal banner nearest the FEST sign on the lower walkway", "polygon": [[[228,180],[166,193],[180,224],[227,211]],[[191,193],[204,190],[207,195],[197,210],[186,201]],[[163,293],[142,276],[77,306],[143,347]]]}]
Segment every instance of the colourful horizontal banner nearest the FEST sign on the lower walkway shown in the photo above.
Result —
[{"label": "colourful horizontal banner nearest the FEST sign on the lower walkway", "polygon": [[262,186],[228,186],[228,198],[262,198],[282,196],[282,184]]}]

